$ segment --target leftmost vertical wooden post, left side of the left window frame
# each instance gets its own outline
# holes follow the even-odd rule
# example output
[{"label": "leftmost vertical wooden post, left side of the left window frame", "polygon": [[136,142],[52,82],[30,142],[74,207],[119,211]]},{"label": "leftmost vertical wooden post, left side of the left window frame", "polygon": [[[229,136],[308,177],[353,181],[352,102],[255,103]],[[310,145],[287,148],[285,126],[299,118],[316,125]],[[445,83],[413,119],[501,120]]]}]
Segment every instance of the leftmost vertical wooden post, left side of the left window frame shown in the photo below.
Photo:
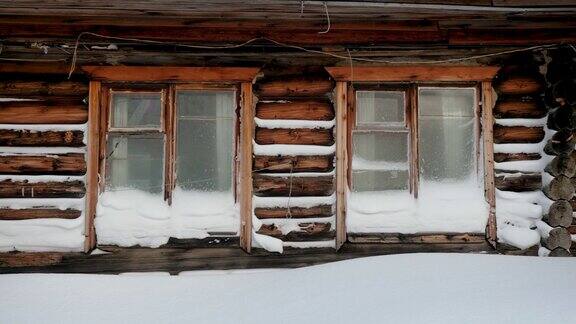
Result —
[{"label": "leftmost vertical wooden post, left side of the left window frame", "polygon": [[100,81],[90,82],[88,104],[88,155],[86,157],[86,207],[84,222],[84,252],[89,252],[96,246],[94,217],[98,201],[98,170],[100,143]]}]

